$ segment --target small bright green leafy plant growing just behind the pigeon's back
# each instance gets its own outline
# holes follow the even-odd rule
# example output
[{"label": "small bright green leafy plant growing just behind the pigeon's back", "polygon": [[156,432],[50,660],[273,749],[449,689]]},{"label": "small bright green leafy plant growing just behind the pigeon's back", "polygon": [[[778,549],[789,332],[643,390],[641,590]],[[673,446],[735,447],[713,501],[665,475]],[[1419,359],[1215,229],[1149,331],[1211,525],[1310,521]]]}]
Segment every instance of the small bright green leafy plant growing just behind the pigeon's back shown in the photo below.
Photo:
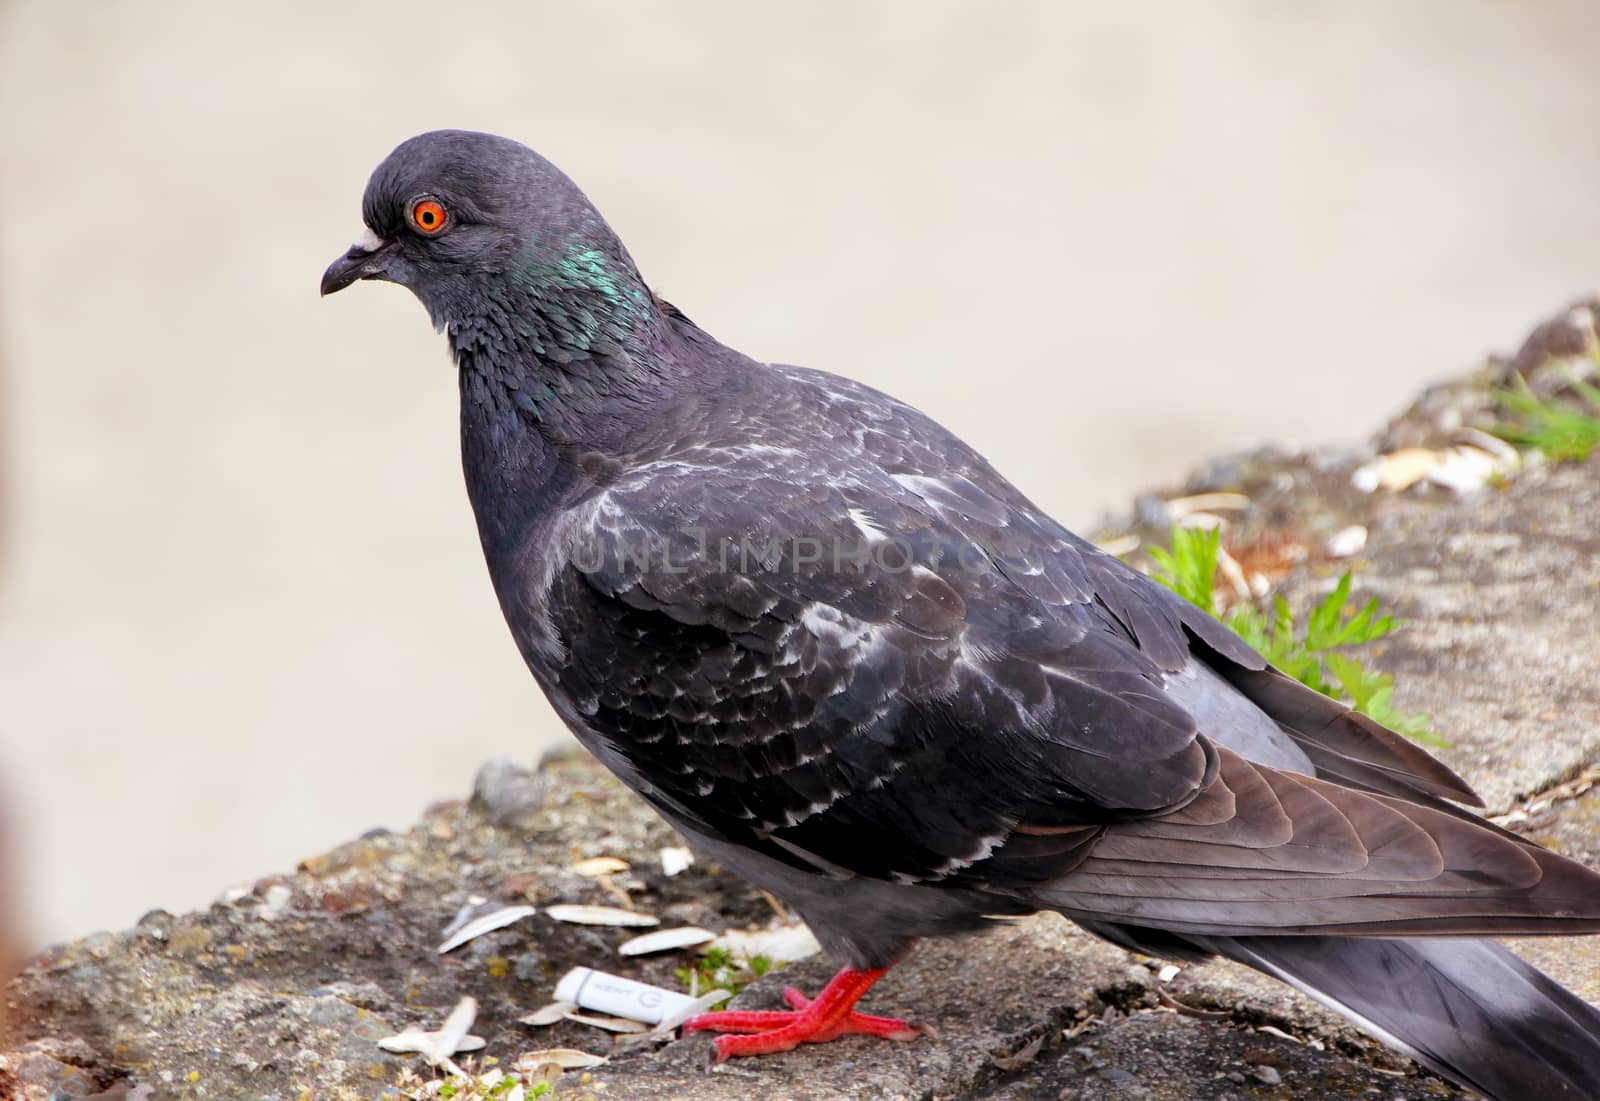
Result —
[{"label": "small bright green leafy plant growing just behind the pigeon's back", "polygon": [[1262,658],[1315,688],[1325,696],[1342,699],[1363,715],[1371,715],[1390,730],[1430,746],[1448,746],[1432,731],[1427,715],[1414,715],[1394,706],[1394,677],[1368,669],[1347,647],[1376,642],[1395,629],[1394,616],[1378,615],[1378,599],[1360,608],[1350,607],[1350,573],[1310,610],[1304,624],[1294,621],[1288,602],[1277,595],[1270,610],[1251,603],[1221,608],[1216,599],[1216,570],[1222,552],[1222,536],[1216,530],[1173,528],[1173,546],[1152,547],[1152,575],[1163,586],[1198,608],[1218,616]]}]

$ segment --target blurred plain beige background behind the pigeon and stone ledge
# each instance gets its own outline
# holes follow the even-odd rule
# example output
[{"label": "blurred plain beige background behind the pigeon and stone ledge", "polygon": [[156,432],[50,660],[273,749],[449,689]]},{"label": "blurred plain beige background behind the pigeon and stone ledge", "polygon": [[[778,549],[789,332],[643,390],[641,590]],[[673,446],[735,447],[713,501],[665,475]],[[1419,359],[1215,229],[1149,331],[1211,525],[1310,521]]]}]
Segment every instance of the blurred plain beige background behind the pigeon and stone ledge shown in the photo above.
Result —
[{"label": "blurred plain beige background behind the pigeon and stone ledge", "polygon": [[1064,520],[1373,429],[1594,285],[1600,8],[35,0],[0,14],[0,771],[35,943],[205,904],[562,736],[440,339],[317,299],[368,171],[496,130],[766,358]]}]

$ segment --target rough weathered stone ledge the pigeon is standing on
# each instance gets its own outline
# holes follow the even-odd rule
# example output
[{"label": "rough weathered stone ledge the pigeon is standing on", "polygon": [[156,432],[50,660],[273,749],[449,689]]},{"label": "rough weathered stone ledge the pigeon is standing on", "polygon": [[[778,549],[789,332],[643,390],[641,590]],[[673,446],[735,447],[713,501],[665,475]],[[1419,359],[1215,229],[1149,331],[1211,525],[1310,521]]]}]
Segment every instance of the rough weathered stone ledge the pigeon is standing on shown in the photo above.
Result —
[{"label": "rough weathered stone ledge the pigeon is standing on", "polygon": [[[1229,515],[1227,546],[1296,608],[1355,570],[1357,595],[1378,595],[1405,619],[1370,655],[1395,674],[1395,703],[1434,717],[1451,741],[1443,757],[1493,811],[1509,811],[1510,827],[1600,863],[1600,456],[1528,467],[1466,499],[1350,485],[1379,450],[1437,445],[1480,421],[1491,406],[1485,386],[1504,370],[1434,387],[1376,446],[1226,456],[1182,491],[1248,498]],[[1106,534],[1165,538],[1141,520],[1165,525],[1174,494],[1142,501]],[[1370,533],[1365,549],[1330,560],[1326,539],[1357,523]],[[0,1096],[152,1096],[147,1087],[158,1098],[400,1096],[402,1069],[427,1069],[382,1053],[378,1040],[437,1027],[462,995],[478,1000],[474,1032],[502,1064],[546,1047],[611,1056],[562,1075],[557,1098],[1461,1096],[1282,984],[1222,963],[1186,967],[1163,984],[1157,962],[1054,915],[923,944],[878,984],[869,1010],[917,1016],[938,1027],[936,1040],[851,1037],[707,1074],[704,1037],[627,1048],[576,1023],[531,1029],[517,1018],[552,1000],[570,967],[678,987],[683,957],[624,959],[616,947],[632,930],[542,912],[440,955],[464,907],[634,906],[714,930],[778,915],[714,866],[666,877],[658,850],[677,839],[587,757],[560,755],[536,771],[498,762],[475,794],[205,912],[157,911],[133,930],[35,957],[5,989],[14,1035],[0,1043]],[[630,871],[573,871],[600,855]],[[1600,1002],[1600,938],[1522,941],[1518,951]],[[806,960],[736,1003],[778,1007],[786,983],[814,989],[829,973],[824,960]],[[1030,1050],[1034,1040],[1042,1043]]]}]

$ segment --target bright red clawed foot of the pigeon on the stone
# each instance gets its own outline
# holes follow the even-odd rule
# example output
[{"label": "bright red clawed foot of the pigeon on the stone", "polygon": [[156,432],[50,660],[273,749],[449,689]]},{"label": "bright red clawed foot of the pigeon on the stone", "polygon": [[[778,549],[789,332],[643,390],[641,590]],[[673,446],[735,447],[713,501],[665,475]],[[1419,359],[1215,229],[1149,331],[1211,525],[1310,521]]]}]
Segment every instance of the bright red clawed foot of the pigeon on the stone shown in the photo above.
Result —
[{"label": "bright red clawed foot of the pigeon on the stone", "polygon": [[867,1016],[856,1013],[854,1005],[867,987],[883,978],[886,968],[856,971],[845,968],[835,975],[816,999],[808,999],[792,986],[784,991],[784,1002],[795,1007],[771,1011],[725,1010],[701,1013],[683,1023],[683,1032],[752,1032],[754,1035],[718,1035],[715,1063],[734,1055],[770,1055],[787,1051],[802,1043],[822,1043],[842,1035],[859,1032],[883,1040],[915,1040],[922,1034],[933,1035],[925,1024],[910,1024],[891,1016]]}]

